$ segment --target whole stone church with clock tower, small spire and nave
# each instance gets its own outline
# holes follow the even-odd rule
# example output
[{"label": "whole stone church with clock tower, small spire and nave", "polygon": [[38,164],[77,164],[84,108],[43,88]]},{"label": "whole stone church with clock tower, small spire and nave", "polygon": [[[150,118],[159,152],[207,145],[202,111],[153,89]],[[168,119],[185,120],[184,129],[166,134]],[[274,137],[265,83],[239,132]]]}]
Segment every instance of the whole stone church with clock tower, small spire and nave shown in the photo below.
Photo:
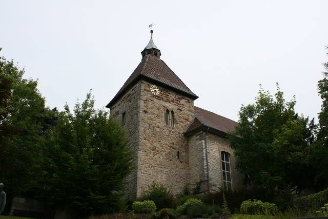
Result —
[{"label": "whole stone church with clock tower, small spire and nave", "polygon": [[140,196],[153,181],[174,194],[186,187],[241,187],[242,176],[227,139],[237,123],[194,106],[198,96],[162,61],[153,30],[141,56],[106,106],[135,150],[136,168],[127,179],[130,194]]}]

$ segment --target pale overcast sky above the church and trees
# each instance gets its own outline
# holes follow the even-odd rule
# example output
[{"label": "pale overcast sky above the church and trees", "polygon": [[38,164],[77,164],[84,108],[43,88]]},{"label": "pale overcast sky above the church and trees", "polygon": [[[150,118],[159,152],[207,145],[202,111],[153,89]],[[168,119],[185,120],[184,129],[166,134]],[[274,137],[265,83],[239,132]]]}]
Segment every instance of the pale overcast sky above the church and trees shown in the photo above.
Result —
[{"label": "pale overcast sky above the church and trees", "polygon": [[72,108],[92,89],[106,106],[141,61],[148,25],[161,59],[199,98],[238,120],[262,84],[317,117],[328,61],[328,1],[0,0],[1,55],[38,78],[49,107]]}]

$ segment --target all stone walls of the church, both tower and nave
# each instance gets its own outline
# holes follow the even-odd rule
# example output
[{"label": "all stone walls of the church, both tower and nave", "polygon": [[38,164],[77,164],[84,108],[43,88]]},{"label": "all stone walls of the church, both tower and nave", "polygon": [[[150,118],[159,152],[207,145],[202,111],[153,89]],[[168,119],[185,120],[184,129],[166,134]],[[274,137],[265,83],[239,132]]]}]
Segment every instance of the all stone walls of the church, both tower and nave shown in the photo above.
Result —
[{"label": "all stone walls of the church, both tower and nave", "polygon": [[[186,185],[201,183],[201,191],[221,187],[221,151],[231,154],[233,189],[242,185],[235,170],[233,150],[226,138],[200,131],[192,136],[183,132],[194,119],[192,99],[159,87],[153,95],[146,81],[139,81],[110,110],[110,115],[124,127],[135,149],[136,169],[128,177],[129,191],[140,196],[153,181],[181,193]],[[175,125],[166,125],[166,110],[174,111]],[[122,113],[125,123],[122,124]],[[206,157],[207,151],[207,157]],[[179,158],[177,153],[179,152]],[[208,160],[208,164],[207,164]]]}]

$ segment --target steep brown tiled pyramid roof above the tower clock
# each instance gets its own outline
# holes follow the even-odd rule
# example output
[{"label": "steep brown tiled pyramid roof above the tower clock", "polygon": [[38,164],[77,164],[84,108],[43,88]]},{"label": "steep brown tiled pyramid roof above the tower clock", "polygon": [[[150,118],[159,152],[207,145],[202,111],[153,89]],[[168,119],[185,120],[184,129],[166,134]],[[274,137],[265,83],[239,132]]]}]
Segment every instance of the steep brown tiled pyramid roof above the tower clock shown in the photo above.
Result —
[{"label": "steep brown tiled pyramid roof above the tower clock", "polygon": [[111,107],[111,105],[116,102],[117,98],[119,98],[119,96],[125,92],[129,85],[131,85],[139,76],[144,76],[146,79],[149,78],[153,81],[157,81],[161,84],[174,88],[189,95],[193,99],[198,98],[198,96],[181,81],[181,79],[169,68],[169,66],[165,64],[165,62],[153,55],[146,55],[142,58],[140,64],[106,107]]}]

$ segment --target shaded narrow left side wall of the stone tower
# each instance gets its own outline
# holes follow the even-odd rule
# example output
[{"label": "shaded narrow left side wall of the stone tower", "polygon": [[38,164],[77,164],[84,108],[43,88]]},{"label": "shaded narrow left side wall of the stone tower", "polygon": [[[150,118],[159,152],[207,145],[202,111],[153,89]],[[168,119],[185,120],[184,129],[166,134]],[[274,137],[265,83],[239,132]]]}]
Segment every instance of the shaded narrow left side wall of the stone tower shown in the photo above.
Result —
[{"label": "shaded narrow left side wall of the stone tower", "polygon": [[[139,120],[140,120],[140,82],[125,93],[110,109],[110,116],[114,117],[125,129],[131,147],[138,153]],[[122,124],[122,113],[125,112],[125,123]],[[135,165],[137,166],[137,159]],[[128,192],[136,196],[137,191],[137,168],[127,178]]]}]

